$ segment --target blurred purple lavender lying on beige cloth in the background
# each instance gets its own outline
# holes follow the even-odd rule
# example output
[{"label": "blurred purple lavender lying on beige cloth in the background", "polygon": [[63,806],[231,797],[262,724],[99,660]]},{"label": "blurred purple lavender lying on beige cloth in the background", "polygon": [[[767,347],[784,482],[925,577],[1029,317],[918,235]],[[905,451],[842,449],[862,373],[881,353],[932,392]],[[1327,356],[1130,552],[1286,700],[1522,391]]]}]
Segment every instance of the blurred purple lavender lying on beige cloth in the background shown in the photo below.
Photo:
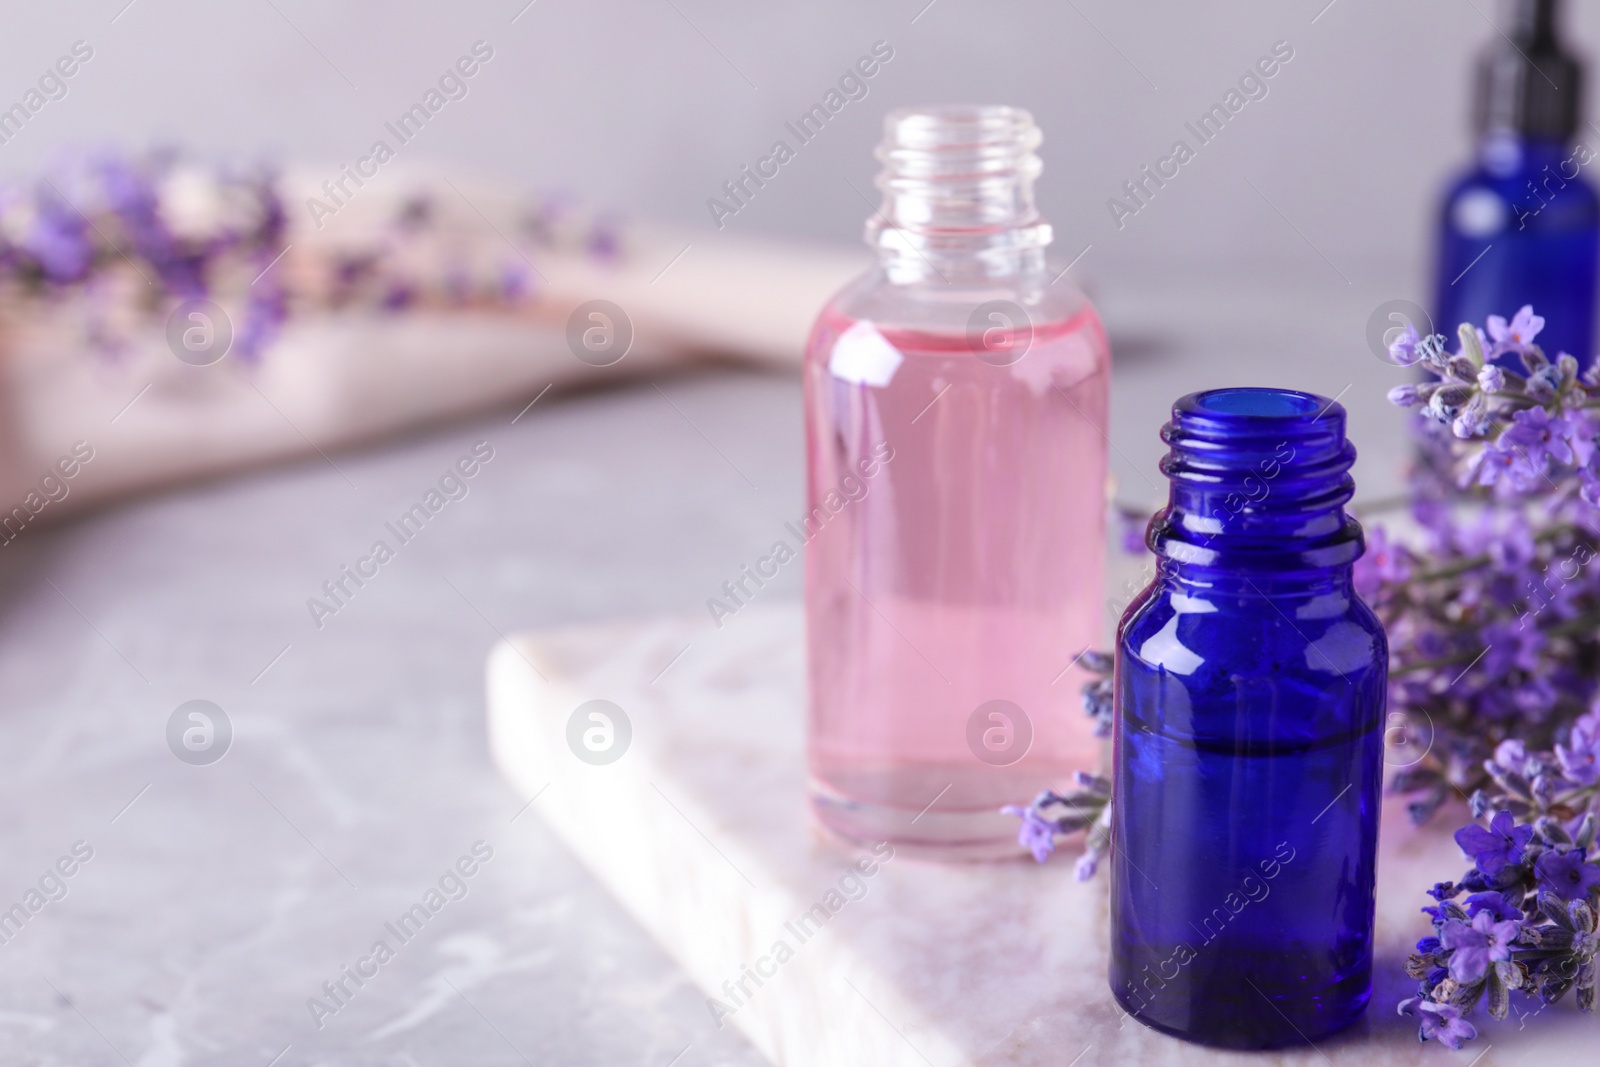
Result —
[{"label": "blurred purple lavender lying on beige cloth in the background", "polygon": [[400,197],[360,240],[315,246],[291,240],[285,181],[270,168],[206,166],[174,150],[96,152],[34,186],[0,186],[0,290],[82,301],[83,336],[109,355],[179,302],[210,299],[234,318],[229,355],[253,365],[298,314],[518,310],[538,298],[531,251],[606,266],[624,256],[611,216],[573,197],[536,205],[522,226],[526,250],[514,246],[512,259],[499,232],[474,245],[424,190]]}]

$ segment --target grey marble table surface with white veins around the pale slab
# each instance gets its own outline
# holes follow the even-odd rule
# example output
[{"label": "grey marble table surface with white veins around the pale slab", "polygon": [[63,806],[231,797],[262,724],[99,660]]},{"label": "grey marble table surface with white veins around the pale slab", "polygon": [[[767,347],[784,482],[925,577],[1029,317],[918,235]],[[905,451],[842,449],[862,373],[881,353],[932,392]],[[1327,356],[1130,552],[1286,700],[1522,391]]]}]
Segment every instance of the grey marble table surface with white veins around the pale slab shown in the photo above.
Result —
[{"label": "grey marble table surface with white veins around the pale slab", "polygon": [[[1285,376],[1270,344],[1197,344],[1118,354],[1128,496],[1160,491],[1178,392],[1254,381],[1349,394],[1363,488],[1392,491],[1392,368],[1357,344]],[[525,402],[0,552],[0,1062],[760,1062],[518,814],[485,749],[483,664],[515,630],[704,609],[802,510],[798,381]],[[466,496],[402,544],[387,525],[475,446],[493,458],[446,483]],[[210,765],[221,729],[182,741],[197,699],[232,729]],[[438,907],[406,925],[418,904]]]}]

